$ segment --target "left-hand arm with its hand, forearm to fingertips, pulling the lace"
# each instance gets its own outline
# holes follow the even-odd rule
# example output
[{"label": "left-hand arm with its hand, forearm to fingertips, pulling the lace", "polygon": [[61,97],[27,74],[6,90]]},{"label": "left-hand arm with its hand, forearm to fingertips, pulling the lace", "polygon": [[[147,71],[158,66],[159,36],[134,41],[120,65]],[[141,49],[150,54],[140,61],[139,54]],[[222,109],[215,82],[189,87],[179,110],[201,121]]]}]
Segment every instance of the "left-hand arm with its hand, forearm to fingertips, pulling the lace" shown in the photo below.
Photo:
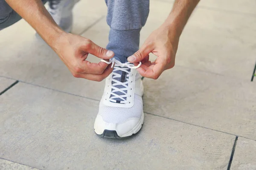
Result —
[{"label": "left-hand arm with its hand, forearm to fingertips, pulling the lace", "polygon": [[58,54],[74,77],[102,81],[112,72],[105,62],[90,63],[88,54],[110,59],[113,51],[99,47],[84,37],[65,33],[52,19],[41,0],[6,0]]}]

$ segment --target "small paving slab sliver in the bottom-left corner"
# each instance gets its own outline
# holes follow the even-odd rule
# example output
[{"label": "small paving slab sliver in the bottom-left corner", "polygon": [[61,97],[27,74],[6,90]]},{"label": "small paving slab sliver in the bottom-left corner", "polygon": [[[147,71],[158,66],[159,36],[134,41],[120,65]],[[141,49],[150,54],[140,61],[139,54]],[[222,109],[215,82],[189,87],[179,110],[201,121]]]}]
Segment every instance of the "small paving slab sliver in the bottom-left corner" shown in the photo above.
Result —
[{"label": "small paving slab sliver in the bottom-left corner", "polygon": [[0,159],[0,170],[38,170],[33,167],[28,167],[23,164],[18,164],[12,161]]}]

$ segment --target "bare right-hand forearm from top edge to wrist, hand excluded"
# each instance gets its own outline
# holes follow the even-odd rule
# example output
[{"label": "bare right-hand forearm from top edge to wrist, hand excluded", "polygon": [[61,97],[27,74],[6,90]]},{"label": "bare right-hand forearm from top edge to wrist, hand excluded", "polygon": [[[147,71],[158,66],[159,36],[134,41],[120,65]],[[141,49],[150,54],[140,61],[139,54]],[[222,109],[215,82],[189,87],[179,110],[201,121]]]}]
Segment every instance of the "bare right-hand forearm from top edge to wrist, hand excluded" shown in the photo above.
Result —
[{"label": "bare right-hand forearm from top edge to wrist, hand excluded", "polygon": [[169,26],[175,35],[180,37],[190,15],[200,0],[175,0],[172,11],[167,17],[164,26]]}]

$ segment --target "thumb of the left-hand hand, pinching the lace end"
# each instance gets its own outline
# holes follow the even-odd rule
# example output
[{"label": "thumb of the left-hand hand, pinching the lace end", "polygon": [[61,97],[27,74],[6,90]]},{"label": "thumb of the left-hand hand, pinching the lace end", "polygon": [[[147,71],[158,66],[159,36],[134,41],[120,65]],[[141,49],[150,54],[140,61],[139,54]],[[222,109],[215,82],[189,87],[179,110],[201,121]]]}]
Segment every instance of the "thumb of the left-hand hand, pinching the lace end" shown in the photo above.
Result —
[{"label": "thumb of the left-hand hand, pinching the lace end", "polygon": [[88,53],[93,54],[96,57],[101,59],[111,59],[114,56],[114,52],[107,50],[105,48],[96,45],[94,42],[91,42],[90,49],[88,49]]}]

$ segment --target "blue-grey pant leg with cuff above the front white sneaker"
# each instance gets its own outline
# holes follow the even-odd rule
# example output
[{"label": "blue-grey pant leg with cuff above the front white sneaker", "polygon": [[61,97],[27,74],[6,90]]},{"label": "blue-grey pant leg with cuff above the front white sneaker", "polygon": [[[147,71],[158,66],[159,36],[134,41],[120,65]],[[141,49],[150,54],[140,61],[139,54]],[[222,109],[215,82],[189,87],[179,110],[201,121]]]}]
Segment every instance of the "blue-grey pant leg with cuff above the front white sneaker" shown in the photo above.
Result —
[{"label": "blue-grey pant leg with cuff above the front white sneaker", "polygon": [[139,49],[140,30],[149,13],[149,0],[105,0],[110,26],[108,50],[122,62]]}]

